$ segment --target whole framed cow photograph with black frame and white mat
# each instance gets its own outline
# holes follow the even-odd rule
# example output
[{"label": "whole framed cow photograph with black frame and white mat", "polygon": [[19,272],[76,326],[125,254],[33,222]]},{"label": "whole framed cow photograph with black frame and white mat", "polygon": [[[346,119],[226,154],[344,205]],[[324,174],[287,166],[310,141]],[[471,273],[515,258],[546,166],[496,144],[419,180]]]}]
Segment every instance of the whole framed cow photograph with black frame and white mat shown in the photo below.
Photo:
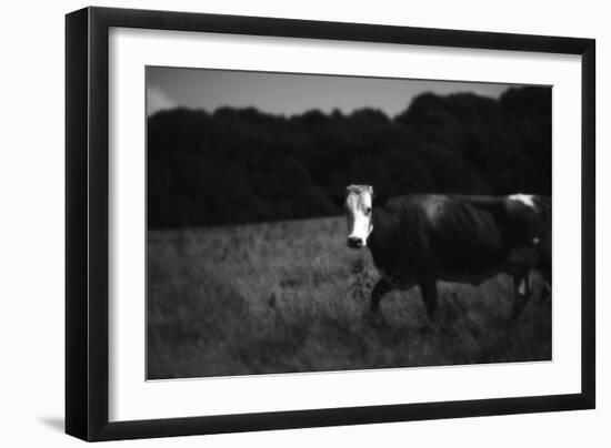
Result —
[{"label": "whole framed cow photograph with black frame and white mat", "polygon": [[66,19],[66,430],[595,403],[594,40]]}]

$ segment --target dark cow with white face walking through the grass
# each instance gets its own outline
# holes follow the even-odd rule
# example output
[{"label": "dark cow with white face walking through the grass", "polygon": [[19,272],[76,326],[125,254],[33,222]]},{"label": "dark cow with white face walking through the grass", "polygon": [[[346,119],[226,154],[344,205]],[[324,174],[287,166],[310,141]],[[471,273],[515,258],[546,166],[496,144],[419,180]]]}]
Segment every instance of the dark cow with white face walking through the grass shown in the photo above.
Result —
[{"label": "dark cow with white face walking through the grass", "polygon": [[419,285],[429,319],[438,307],[437,282],[480,285],[513,278],[515,322],[532,295],[531,272],[551,291],[551,201],[513,194],[412,194],[388,197],[370,185],[350,185],[334,202],[345,210],[348,247],[369,247],[380,279],[371,292],[375,315],[392,289]]}]

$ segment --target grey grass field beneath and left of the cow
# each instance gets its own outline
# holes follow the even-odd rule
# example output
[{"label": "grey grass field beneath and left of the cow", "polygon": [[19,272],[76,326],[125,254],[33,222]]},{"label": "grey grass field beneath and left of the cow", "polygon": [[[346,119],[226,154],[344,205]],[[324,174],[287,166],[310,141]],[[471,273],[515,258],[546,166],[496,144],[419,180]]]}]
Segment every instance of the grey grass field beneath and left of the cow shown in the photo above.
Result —
[{"label": "grey grass field beneath and left of the cow", "polygon": [[369,316],[369,251],[345,247],[343,218],[148,234],[148,377],[551,359],[541,284],[519,322],[512,282],[439,283],[429,325],[418,287]]}]

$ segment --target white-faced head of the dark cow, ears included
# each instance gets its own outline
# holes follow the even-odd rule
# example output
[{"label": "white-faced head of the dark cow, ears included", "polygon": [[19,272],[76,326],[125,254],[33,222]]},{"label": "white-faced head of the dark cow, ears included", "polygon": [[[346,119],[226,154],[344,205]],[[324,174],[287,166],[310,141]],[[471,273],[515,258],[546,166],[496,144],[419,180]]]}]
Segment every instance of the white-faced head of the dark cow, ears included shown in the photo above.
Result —
[{"label": "white-faced head of the dark cow, ears included", "polygon": [[334,195],[331,198],[345,208],[348,247],[367,246],[367,238],[373,231],[373,207],[384,205],[388,197],[373,195],[373,187],[370,185],[350,185],[345,189],[344,196]]}]

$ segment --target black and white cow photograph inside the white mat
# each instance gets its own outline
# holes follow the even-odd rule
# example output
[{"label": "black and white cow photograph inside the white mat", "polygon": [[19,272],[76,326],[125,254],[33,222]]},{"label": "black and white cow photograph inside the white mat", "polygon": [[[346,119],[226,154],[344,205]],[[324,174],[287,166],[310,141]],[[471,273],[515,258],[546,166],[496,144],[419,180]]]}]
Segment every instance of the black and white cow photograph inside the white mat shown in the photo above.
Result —
[{"label": "black and white cow photograph inside the white mat", "polygon": [[147,67],[147,378],[552,360],[552,88]]}]

